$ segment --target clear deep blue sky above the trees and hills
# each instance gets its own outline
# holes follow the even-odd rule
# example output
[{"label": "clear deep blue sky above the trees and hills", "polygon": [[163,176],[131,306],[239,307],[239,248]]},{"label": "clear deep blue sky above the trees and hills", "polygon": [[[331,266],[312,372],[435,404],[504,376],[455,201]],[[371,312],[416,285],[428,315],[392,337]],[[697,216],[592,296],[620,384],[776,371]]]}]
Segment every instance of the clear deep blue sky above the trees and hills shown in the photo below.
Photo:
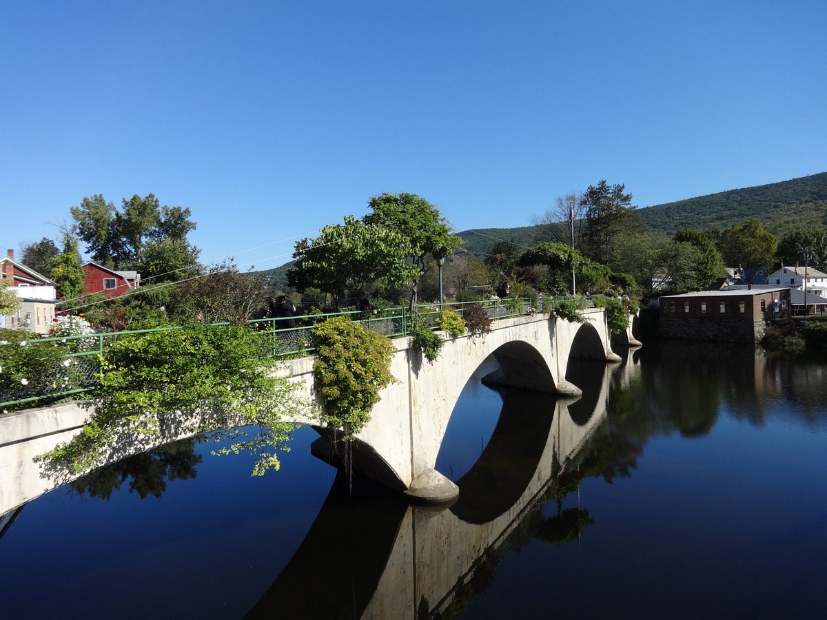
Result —
[{"label": "clear deep blue sky above the trees and hills", "polygon": [[267,269],[381,192],[460,231],[824,172],[825,32],[823,0],[0,0],[0,244],[152,192]]}]

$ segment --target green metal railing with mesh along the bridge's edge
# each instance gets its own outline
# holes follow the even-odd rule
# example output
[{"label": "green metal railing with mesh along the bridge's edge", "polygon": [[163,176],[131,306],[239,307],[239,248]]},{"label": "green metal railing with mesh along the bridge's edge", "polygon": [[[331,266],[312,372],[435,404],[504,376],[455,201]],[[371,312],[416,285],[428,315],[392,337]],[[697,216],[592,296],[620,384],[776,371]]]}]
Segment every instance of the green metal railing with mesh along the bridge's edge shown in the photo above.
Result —
[{"label": "green metal railing with mesh along the bridge's edge", "polygon": [[[442,310],[452,308],[462,315],[471,303],[482,305],[492,321],[519,316],[531,307],[531,300],[528,298],[469,303],[428,303],[419,304],[414,312],[404,307],[383,308],[368,311],[305,314],[297,317],[261,318],[251,320],[249,324],[261,331],[267,355],[278,359],[288,359],[312,355],[311,331],[318,323],[331,317],[350,317],[351,320],[361,322],[368,329],[379,331],[389,338],[399,338],[408,336],[409,329],[415,322],[431,329],[438,329],[437,317]],[[539,309],[542,311],[542,308]],[[289,327],[288,322],[294,322],[294,325]],[[213,323],[214,326],[227,324]],[[102,355],[110,343],[123,336],[177,329],[181,329],[181,326],[47,338],[38,338],[36,334],[31,334],[31,338],[27,340],[0,341],[0,413],[8,413],[24,406],[35,406],[43,402],[55,403],[64,399],[77,398],[97,384]],[[2,367],[2,359],[7,357],[2,355],[4,352],[2,349],[12,346],[29,347],[26,351],[21,349],[13,352],[17,355],[30,355],[31,359],[35,360],[37,369],[36,372],[31,373],[31,377],[12,379],[11,369]],[[57,355],[58,351],[51,351],[53,348],[60,350],[60,355]]]}]

